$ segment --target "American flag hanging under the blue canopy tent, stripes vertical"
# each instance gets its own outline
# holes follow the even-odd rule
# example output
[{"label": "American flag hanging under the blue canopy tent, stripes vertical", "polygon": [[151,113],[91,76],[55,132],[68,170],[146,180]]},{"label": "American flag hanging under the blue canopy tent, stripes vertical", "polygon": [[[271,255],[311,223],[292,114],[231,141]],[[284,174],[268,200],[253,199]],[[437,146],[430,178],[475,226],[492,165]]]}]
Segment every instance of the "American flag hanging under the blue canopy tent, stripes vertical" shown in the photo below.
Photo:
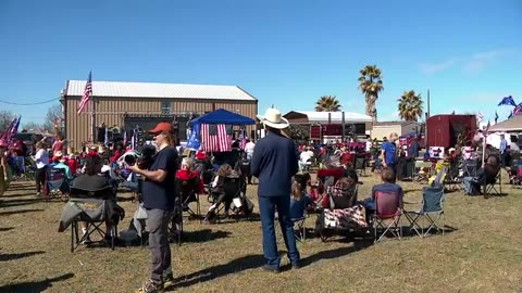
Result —
[{"label": "American flag hanging under the blue canopy tent, stripes vertical", "polygon": [[201,140],[206,152],[231,152],[232,125],[202,124]]}]

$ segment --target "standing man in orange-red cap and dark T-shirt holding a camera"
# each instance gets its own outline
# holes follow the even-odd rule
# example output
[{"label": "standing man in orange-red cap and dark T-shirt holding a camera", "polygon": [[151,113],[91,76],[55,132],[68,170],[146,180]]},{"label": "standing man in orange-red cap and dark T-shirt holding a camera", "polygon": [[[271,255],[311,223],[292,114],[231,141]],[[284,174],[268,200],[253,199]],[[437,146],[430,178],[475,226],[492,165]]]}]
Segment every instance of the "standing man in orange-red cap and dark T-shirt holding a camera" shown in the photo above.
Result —
[{"label": "standing man in orange-red cap and dark T-shirt holding a camera", "polygon": [[158,152],[150,166],[133,165],[129,168],[141,175],[142,198],[147,211],[147,230],[151,252],[151,277],[138,292],[161,292],[174,281],[169,244],[169,222],[176,198],[174,176],[178,169],[177,152],[174,149],[173,127],[159,123],[150,130]]}]

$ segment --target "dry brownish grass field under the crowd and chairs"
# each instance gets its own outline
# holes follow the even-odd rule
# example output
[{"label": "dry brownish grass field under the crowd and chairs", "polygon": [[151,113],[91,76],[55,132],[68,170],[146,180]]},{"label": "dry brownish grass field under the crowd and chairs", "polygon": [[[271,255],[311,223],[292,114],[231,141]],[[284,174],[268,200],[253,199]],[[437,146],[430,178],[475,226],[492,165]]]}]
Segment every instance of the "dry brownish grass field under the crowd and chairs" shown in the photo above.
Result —
[{"label": "dry brownish grass field under the crowd and chairs", "polygon": [[[359,199],[378,182],[361,178]],[[422,184],[401,183],[408,201]],[[298,243],[304,267],[263,271],[261,224],[189,221],[187,241],[172,245],[179,292],[522,292],[522,191],[484,199],[448,193],[443,237],[371,241],[335,237]],[[70,231],[58,233],[63,203],[41,202],[32,182],[14,182],[0,200],[0,292],[134,292],[147,279],[149,251],[141,247],[70,252]],[[257,203],[257,187],[249,186]],[[126,229],[135,203],[123,201]],[[202,199],[207,203],[206,196]],[[208,206],[204,205],[203,209]],[[415,208],[417,206],[407,206]],[[307,220],[312,228],[315,216]],[[402,220],[407,225],[406,219]],[[284,245],[279,251],[284,253]],[[288,264],[285,257],[283,264]]]}]

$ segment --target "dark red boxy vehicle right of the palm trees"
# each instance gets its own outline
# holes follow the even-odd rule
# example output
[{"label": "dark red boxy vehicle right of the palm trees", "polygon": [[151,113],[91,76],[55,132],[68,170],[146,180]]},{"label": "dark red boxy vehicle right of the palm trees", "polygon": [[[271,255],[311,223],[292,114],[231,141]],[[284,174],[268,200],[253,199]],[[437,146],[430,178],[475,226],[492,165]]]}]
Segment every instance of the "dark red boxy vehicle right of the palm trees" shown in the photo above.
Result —
[{"label": "dark red boxy vehicle right of the palm trees", "polygon": [[475,131],[475,115],[435,115],[427,119],[427,145],[452,148],[459,136],[471,141]]}]

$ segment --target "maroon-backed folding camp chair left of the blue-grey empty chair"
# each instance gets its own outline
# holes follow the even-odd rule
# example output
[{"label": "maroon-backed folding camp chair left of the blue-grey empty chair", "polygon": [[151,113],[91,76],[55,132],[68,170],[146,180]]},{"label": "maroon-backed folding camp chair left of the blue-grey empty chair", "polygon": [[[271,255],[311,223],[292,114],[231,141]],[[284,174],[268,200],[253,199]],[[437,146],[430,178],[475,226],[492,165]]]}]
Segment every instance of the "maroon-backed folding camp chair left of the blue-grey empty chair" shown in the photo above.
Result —
[{"label": "maroon-backed folding camp chair left of the blue-grey empty chair", "polygon": [[[400,196],[401,194],[395,192],[375,192],[375,213],[371,216],[375,243],[380,242],[388,231],[400,240],[402,235],[401,227],[399,227],[402,211]],[[386,221],[389,224],[386,225]],[[377,233],[378,230],[384,231]]]}]

